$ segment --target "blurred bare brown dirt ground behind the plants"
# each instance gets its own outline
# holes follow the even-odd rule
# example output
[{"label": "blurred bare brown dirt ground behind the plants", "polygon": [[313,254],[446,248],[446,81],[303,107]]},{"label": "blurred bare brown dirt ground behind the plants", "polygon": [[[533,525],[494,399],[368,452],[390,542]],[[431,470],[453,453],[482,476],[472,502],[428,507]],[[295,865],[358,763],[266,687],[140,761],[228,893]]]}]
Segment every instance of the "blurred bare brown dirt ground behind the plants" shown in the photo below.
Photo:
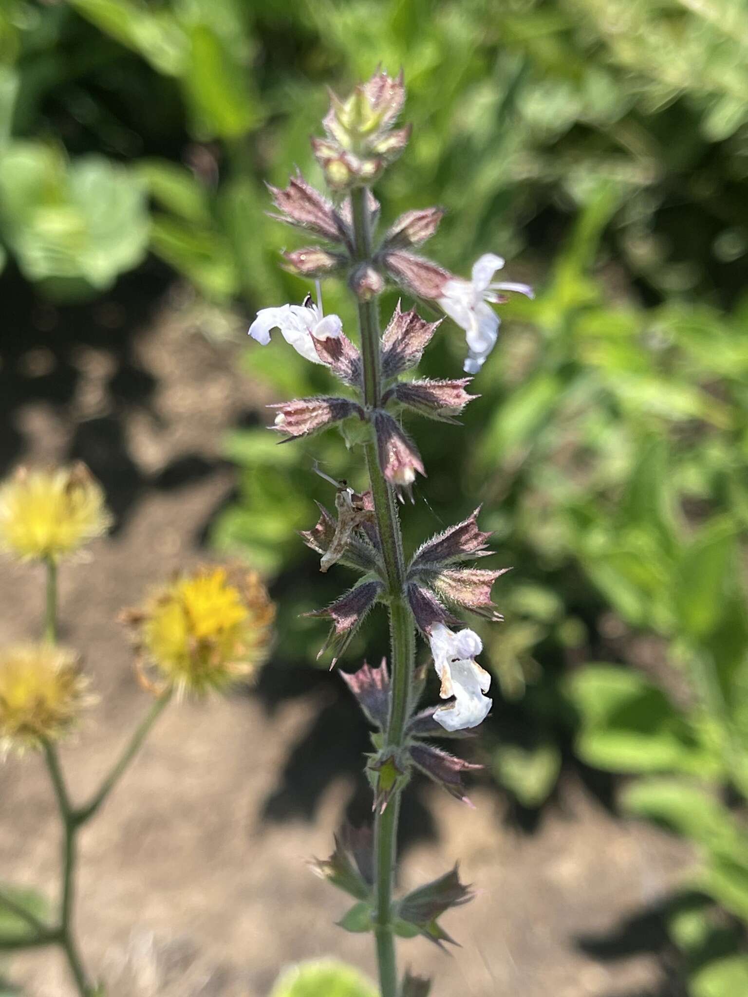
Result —
[{"label": "blurred bare brown dirt ground behind the plants", "polygon": [[[124,321],[119,307],[100,310],[103,325]],[[206,555],[205,523],[233,484],[218,447],[249,407],[248,389],[235,347],[207,340],[193,319],[174,293],[138,319],[126,366],[128,384],[147,386],[147,404],[133,404],[133,392],[131,403],[118,401],[113,364],[124,354],[93,337],[71,354],[75,389],[64,404],[32,392],[8,415],[9,454],[87,457],[104,469],[122,516],[90,562],[66,566],[61,578],[64,638],[85,652],[101,697],[63,750],[76,798],[96,785],[149,705],[115,617],[172,569]],[[42,310],[37,322],[54,332],[54,312]],[[18,354],[25,377],[48,375],[55,357],[45,351]],[[35,631],[40,581],[32,567],[2,565],[3,642]],[[289,746],[319,708],[317,692],[272,714],[238,696],[174,705],[162,718],[82,837],[78,927],[112,997],[265,997],[284,964],[325,953],[373,972],[370,938],[334,926],[345,899],[305,864],[329,850],[349,781],[327,787],[311,822],[263,819]],[[612,818],[573,779],[533,834],[508,825],[495,793],[479,788],[472,797],[473,812],[430,793],[436,835],[404,862],[404,882],[416,884],[460,856],[480,890],[445,919],[462,943],[452,957],[422,940],[401,945],[404,960],[438,974],[434,997],[679,997],[656,928],[639,916],[678,881],[687,858],[678,845]],[[11,759],[0,768],[0,878],[54,895],[58,840],[39,759]],[[605,938],[613,941],[595,947]],[[34,997],[73,994],[54,952],[15,956],[9,972]]]}]

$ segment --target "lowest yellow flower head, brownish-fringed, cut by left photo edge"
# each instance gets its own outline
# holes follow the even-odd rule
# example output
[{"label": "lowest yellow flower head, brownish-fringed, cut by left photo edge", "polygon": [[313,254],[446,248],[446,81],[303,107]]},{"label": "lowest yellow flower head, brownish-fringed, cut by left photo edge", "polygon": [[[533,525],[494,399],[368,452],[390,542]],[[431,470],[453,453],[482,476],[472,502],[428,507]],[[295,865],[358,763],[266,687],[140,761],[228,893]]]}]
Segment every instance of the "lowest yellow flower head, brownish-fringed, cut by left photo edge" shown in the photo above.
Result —
[{"label": "lowest yellow flower head, brownish-fringed, cut by left photo edge", "polygon": [[53,644],[0,651],[0,748],[38,748],[66,734],[88,706],[78,656]]}]

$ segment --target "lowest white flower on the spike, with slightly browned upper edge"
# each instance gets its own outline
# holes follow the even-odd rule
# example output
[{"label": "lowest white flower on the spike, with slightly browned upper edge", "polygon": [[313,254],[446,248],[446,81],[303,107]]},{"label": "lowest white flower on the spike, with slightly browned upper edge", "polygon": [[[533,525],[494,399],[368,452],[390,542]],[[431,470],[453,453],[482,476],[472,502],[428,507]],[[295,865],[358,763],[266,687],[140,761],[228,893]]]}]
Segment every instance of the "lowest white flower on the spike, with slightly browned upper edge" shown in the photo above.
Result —
[{"label": "lowest white flower on the spike, with slightly browned upper edge", "polygon": [[453,633],[444,623],[436,623],[429,634],[434,667],[442,680],[442,699],[455,697],[449,706],[440,706],[434,720],[447,731],[462,731],[483,723],[492,707],[491,676],[475,661],[483,650],[481,638],[473,630]]}]

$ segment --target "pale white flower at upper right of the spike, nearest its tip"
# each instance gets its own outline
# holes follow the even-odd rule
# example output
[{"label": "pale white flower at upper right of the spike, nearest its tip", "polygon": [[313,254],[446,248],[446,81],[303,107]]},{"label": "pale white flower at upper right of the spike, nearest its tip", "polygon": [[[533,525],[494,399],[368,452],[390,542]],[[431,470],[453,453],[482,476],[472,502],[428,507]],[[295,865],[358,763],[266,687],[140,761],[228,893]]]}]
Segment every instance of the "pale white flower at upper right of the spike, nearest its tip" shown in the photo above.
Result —
[{"label": "pale white flower at upper right of the spike, nearest its tip", "polygon": [[503,266],[504,259],[501,256],[486,253],[473,266],[472,280],[461,280],[458,277],[448,280],[443,288],[443,296],[439,298],[444,311],[465,329],[469,352],[464,369],[468,374],[479,372],[499,336],[501,322],[490,307],[490,304],[501,301],[497,292],[519,291],[529,298],[534,296],[533,289],[528,284],[509,281],[493,283],[494,274]]}]

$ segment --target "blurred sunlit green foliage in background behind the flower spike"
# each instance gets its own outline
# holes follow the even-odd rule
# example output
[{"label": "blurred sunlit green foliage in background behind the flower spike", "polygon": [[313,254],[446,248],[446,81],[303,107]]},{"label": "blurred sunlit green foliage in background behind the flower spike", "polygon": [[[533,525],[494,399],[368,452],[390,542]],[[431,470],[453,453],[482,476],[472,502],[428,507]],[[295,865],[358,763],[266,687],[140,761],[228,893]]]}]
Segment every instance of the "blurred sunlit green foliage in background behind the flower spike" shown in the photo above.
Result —
[{"label": "blurred sunlit green foliage in background behind the flower spike", "polygon": [[[624,806],[702,855],[671,918],[692,993],[733,997],[748,989],[745,5],[8,0],[0,243],[50,295],[109,286],[148,243],[219,304],[300,300],[277,266],[299,243],[266,217],[263,181],[298,165],[319,182],[324,87],[379,62],[404,66],[414,124],[378,190],[384,223],[444,204],[430,255],[467,273],[501,252],[539,290],[503,307],[465,428],[413,426],[429,478],[404,514],[413,547],[483,501],[516,567],[497,586],[507,622],[482,629],[501,691],[490,771],[529,808],[571,742],[636,774]],[[352,327],[342,286],[325,308]],[[463,351],[445,324],[423,373]],[[330,388],[280,342],[244,366],[257,406]],[[225,453],[239,497],[214,540],[278,576],[281,654],[311,662],[322,635],[299,613],[340,578],[294,530],[312,498],[332,503],[313,461],[350,478],[357,457],[335,434],[276,447],[259,424]],[[351,658],[377,640],[375,617]]]}]

